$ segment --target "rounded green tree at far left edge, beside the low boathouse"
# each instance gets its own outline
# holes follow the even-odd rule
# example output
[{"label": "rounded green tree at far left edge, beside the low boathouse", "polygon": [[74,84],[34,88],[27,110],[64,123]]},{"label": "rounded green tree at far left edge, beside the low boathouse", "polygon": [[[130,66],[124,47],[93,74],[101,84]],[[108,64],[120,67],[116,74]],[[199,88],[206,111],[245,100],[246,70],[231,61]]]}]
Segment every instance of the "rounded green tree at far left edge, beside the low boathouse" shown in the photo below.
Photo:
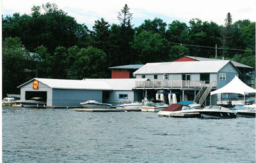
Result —
[{"label": "rounded green tree at far left edge, beside the low boathouse", "polygon": [[22,49],[20,38],[5,38],[3,41],[3,97],[7,93],[18,93],[17,86],[31,79],[28,71],[28,51]]}]

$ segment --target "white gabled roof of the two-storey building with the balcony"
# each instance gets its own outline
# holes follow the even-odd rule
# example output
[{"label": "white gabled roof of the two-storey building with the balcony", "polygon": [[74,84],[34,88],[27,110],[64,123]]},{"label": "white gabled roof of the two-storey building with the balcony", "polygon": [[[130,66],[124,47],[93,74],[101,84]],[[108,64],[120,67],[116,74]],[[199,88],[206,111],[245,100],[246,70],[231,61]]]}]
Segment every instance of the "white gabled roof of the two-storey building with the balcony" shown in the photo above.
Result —
[{"label": "white gabled roof of the two-storey building with the balcony", "polygon": [[217,73],[228,63],[227,60],[147,63],[133,74]]}]

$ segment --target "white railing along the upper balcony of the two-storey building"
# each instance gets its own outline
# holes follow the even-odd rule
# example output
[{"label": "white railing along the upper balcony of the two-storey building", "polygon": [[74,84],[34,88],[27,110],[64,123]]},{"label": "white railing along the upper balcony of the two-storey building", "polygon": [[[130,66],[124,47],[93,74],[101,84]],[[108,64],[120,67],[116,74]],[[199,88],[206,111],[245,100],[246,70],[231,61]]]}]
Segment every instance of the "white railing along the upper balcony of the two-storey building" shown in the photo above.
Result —
[{"label": "white railing along the upper balcony of the two-storey building", "polygon": [[136,81],[136,88],[202,88],[205,81]]}]

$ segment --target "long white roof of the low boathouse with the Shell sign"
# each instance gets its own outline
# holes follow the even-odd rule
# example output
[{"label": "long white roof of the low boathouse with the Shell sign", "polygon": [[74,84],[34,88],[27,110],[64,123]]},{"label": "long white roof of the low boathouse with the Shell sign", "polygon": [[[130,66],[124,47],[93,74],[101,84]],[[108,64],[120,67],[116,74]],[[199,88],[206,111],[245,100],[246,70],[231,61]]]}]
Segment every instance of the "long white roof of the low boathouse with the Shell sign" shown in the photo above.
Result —
[{"label": "long white roof of the low boathouse with the Shell sign", "polygon": [[146,81],[147,79],[44,79],[34,78],[18,86],[20,88],[31,81],[39,81],[50,88],[55,89],[93,89],[93,90],[132,90],[135,87],[135,81]]}]

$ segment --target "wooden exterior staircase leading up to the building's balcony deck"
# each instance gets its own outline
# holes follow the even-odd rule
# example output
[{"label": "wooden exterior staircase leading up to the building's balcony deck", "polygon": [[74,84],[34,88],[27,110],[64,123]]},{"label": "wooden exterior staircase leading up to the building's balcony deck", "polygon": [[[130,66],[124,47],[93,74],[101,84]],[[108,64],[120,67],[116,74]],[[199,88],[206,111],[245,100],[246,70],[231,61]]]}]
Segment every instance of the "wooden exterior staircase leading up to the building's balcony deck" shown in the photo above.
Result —
[{"label": "wooden exterior staircase leading up to the building's balcony deck", "polygon": [[216,85],[216,82],[212,81],[211,84],[206,88],[202,87],[200,91],[197,93],[195,99],[193,100],[197,104],[204,105],[204,102],[212,90],[212,87]]}]

